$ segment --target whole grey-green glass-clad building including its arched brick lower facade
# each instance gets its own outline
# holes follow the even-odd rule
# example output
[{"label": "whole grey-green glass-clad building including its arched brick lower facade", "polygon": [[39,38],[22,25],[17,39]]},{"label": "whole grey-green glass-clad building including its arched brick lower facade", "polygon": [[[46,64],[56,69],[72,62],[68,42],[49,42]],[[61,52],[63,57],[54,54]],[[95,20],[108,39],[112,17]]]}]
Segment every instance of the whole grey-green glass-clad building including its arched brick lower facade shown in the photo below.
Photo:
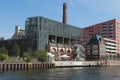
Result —
[{"label": "whole grey-green glass-clad building including its arched brick lower facade", "polygon": [[26,38],[33,39],[36,50],[48,49],[60,60],[62,55],[72,59],[71,42],[81,40],[82,29],[41,16],[27,18]]}]

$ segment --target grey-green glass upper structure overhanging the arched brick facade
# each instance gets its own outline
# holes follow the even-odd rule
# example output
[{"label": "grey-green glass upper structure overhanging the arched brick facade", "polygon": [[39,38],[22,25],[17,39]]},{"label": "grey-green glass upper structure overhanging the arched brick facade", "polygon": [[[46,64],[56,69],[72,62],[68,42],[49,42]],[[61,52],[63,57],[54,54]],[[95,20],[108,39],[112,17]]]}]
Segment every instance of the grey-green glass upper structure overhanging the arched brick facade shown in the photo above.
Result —
[{"label": "grey-green glass upper structure overhanging the arched brick facade", "polygon": [[82,29],[41,16],[29,17],[25,22],[26,37],[33,39],[36,50],[46,49],[50,41],[71,46],[82,38]]}]

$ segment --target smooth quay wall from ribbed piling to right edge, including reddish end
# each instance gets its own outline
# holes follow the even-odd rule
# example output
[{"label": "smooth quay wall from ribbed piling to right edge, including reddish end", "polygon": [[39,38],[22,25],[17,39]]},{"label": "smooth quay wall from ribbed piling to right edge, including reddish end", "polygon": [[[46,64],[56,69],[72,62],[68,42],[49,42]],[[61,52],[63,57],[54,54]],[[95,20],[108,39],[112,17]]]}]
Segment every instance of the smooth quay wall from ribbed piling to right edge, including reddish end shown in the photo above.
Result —
[{"label": "smooth quay wall from ribbed piling to right edge, including reddish end", "polygon": [[53,61],[55,67],[109,67],[120,66],[119,60],[107,61]]}]

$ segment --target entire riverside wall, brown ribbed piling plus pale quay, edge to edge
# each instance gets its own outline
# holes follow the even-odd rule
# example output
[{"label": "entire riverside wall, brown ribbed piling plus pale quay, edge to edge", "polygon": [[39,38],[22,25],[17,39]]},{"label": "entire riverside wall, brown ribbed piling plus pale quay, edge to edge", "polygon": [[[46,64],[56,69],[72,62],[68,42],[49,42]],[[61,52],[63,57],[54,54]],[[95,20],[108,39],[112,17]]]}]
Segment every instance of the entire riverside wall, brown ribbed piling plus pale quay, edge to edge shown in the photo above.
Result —
[{"label": "entire riverside wall, brown ribbed piling plus pale quay, edge to edge", "polygon": [[52,62],[1,62],[0,70],[51,69],[63,67],[108,67],[120,66],[119,60],[107,61],[52,61]]}]

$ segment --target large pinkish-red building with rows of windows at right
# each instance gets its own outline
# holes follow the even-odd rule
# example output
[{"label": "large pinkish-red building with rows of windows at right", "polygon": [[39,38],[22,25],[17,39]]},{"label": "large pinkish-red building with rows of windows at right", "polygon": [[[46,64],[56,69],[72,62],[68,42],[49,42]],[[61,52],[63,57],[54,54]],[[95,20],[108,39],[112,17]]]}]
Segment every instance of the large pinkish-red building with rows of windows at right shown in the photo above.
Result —
[{"label": "large pinkish-red building with rows of windows at right", "polygon": [[[88,26],[83,29],[84,44],[87,44],[89,39],[94,35],[99,34],[103,36],[106,41],[106,52],[109,53],[120,53],[120,20],[109,20],[96,25]],[[112,45],[108,45],[108,42]],[[113,50],[113,48],[115,48]]]}]

